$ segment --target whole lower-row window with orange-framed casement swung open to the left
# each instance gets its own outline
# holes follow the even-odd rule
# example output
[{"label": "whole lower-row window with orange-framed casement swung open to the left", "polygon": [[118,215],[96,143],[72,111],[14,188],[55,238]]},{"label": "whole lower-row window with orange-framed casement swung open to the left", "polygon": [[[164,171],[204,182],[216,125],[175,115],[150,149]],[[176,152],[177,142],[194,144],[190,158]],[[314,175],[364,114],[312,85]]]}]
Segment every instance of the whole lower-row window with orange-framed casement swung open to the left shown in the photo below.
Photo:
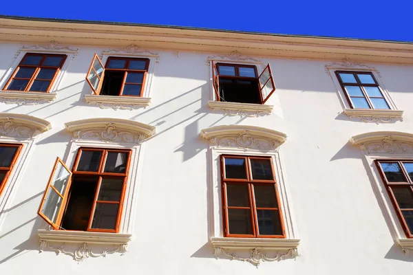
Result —
[{"label": "whole lower-row window with orange-framed casement swung open to the left", "polygon": [[80,148],[72,172],[56,159],[38,214],[54,229],[118,232],[130,157]]}]

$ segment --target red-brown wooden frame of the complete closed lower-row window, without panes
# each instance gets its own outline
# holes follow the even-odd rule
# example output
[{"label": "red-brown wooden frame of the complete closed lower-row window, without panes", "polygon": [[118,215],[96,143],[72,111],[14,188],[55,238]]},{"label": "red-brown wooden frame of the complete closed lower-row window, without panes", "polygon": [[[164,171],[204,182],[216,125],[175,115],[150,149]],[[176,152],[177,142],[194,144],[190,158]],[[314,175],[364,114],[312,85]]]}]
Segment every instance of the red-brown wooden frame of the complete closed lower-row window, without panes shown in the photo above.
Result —
[{"label": "red-brown wooden frame of the complete closed lower-row window, without panes", "polygon": [[[227,179],[225,176],[225,158],[231,159],[245,159],[246,167],[246,179]],[[271,170],[273,172],[272,180],[264,179],[253,179],[251,170],[251,159],[266,159],[271,162]],[[221,186],[222,186],[222,209],[224,218],[224,236],[226,237],[237,237],[237,238],[273,238],[273,239],[284,239],[286,237],[284,229],[284,218],[282,215],[282,210],[280,208],[279,195],[277,191],[277,181],[275,180],[275,170],[273,165],[273,160],[271,157],[262,156],[246,156],[246,155],[221,155]],[[228,184],[242,184],[248,186],[249,195],[249,207],[240,206],[228,206],[226,186]],[[254,186],[274,186],[275,199],[277,200],[276,208],[257,208],[255,203]],[[253,225],[253,234],[230,234],[229,233],[229,215],[228,209],[250,209],[251,210],[251,224]],[[258,230],[258,219],[257,210],[276,210],[279,214],[279,223],[281,225],[282,234],[281,235],[260,235]]]}]

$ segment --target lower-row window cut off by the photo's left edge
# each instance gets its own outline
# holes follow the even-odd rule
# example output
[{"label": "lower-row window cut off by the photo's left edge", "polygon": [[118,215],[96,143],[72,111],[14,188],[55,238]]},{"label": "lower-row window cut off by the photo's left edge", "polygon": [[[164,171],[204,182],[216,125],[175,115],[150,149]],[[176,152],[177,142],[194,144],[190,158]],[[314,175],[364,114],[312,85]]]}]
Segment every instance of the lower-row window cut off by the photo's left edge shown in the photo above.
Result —
[{"label": "lower-row window cut off by the photo's left edge", "polygon": [[0,195],[16,164],[22,146],[21,144],[0,144]]}]

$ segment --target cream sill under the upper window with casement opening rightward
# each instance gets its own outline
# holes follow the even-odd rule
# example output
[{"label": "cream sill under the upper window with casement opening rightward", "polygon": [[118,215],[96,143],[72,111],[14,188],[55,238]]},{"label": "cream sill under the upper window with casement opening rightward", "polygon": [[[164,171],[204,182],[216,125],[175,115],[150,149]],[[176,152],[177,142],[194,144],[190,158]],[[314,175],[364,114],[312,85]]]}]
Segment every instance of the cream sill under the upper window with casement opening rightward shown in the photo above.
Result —
[{"label": "cream sill under the upper window with casement opening rightward", "polygon": [[258,117],[262,115],[270,115],[273,111],[273,105],[267,104],[252,104],[252,103],[238,103],[238,102],[222,102],[209,101],[209,108],[213,111],[223,111],[226,115],[241,115]]}]

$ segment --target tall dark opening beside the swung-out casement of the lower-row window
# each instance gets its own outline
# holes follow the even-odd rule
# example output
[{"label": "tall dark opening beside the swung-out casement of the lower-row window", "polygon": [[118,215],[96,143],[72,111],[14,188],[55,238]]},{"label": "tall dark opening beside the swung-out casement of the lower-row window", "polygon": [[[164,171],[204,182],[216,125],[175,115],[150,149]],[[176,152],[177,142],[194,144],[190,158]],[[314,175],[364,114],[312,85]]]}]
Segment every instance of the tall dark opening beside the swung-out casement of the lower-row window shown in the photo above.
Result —
[{"label": "tall dark opening beside the swung-out casement of the lower-row window", "polygon": [[98,177],[74,176],[62,228],[86,231],[94,203]]}]

